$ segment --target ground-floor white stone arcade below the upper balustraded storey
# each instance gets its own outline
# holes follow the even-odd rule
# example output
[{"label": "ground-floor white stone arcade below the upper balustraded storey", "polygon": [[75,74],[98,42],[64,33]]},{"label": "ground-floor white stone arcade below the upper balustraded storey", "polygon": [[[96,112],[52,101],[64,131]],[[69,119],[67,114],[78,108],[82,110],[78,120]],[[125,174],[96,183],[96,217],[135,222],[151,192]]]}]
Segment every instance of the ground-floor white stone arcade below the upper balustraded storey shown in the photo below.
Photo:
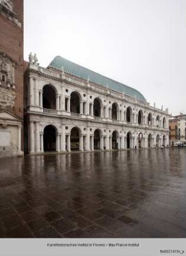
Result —
[{"label": "ground-floor white stone arcade below the upper balustraded storey", "polygon": [[28,152],[72,152],[164,147],[168,134],[78,119],[30,117]]}]

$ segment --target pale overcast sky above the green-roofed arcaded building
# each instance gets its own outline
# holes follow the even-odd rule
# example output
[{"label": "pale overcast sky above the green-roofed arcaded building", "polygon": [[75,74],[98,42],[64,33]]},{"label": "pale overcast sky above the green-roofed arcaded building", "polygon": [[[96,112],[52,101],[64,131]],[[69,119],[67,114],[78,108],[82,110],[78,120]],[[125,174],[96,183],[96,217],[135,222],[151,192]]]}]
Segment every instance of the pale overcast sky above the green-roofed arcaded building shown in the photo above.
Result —
[{"label": "pale overcast sky above the green-roofed arcaded building", "polygon": [[24,59],[60,55],[186,113],[185,0],[24,0]]}]

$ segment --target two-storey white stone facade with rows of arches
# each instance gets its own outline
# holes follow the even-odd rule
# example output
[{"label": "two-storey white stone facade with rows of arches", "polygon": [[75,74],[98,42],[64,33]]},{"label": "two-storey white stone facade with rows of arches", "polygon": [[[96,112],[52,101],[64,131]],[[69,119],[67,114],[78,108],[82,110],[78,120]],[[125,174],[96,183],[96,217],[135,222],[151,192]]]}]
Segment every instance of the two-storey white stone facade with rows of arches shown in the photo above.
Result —
[{"label": "two-storey white stone facade with rows of arches", "polygon": [[[48,149],[71,152],[74,148],[80,151],[125,150],[169,144],[168,111],[64,71],[29,64],[26,74],[27,153],[43,153]],[[73,92],[79,98],[78,112],[72,111]],[[52,99],[52,93],[55,93],[53,107],[44,108],[44,104],[50,104],[48,101]],[[100,106],[96,116],[95,99]],[[47,127],[50,127],[48,131]],[[76,128],[74,139],[72,128]]]}]

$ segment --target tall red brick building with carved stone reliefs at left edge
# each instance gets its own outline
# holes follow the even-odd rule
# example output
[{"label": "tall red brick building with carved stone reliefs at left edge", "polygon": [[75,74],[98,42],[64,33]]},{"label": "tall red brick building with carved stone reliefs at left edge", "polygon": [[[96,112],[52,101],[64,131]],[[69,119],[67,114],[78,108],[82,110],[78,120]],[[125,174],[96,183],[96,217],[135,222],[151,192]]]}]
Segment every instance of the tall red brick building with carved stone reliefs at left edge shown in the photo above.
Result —
[{"label": "tall red brick building with carved stone reliefs at left edge", "polygon": [[0,157],[20,155],[23,138],[23,0],[0,0]]}]

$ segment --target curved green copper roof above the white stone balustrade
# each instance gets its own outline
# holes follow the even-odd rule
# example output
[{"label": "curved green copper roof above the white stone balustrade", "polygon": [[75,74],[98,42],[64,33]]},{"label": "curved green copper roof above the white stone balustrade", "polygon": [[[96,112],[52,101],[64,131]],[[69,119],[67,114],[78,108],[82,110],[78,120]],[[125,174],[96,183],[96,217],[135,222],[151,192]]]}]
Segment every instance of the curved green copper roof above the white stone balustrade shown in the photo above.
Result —
[{"label": "curved green copper roof above the white stone balustrade", "polygon": [[116,90],[117,92],[123,92],[128,96],[136,97],[138,100],[145,101],[142,93],[133,89],[129,86],[125,86],[121,82],[114,81],[106,76],[102,76],[94,71],[89,70],[88,68],[81,67],[70,60],[64,59],[63,57],[57,56],[50,63],[49,67],[63,69],[64,72],[67,72],[71,75],[78,76],[78,78],[89,79],[90,82],[94,82],[100,86],[108,87],[109,89]]}]

